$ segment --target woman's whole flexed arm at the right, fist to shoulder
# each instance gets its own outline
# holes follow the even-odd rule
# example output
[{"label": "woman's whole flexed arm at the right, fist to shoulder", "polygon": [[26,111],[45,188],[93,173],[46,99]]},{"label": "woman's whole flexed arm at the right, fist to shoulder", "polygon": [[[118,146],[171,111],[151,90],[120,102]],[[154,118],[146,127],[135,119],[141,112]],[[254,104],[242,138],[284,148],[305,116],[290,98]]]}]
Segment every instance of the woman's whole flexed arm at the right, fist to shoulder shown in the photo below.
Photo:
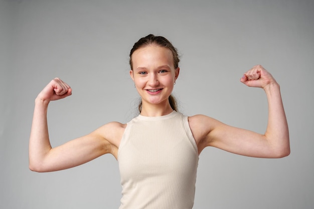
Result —
[{"label": "woman's whole flexed arm at the right, fist to shoulder", "polygon": [[264,89],[267,95],[268,124],[265,133],[232,127],[213,118],[196,115],[189,121],[199,152],[206,146],[214,146],[252,157],[280,158],[289,155],[289,131],[279,84],[260,65],[247,71],[240,81],[249,87]]}]

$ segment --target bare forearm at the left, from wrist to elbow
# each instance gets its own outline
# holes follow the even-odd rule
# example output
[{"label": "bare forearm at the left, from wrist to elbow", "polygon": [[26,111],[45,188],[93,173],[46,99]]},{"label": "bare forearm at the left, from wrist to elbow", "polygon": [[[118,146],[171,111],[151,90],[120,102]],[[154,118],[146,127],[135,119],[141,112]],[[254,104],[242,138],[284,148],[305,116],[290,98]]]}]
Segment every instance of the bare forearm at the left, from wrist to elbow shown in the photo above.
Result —
[{"label": "bare forearm at the left, from wrist to elbow", "polygon": [[31,170],[40,169],[45,156],[51,149],[47,124],[48,102],[35,100],[32,129],[29,142],[29,166]]}]

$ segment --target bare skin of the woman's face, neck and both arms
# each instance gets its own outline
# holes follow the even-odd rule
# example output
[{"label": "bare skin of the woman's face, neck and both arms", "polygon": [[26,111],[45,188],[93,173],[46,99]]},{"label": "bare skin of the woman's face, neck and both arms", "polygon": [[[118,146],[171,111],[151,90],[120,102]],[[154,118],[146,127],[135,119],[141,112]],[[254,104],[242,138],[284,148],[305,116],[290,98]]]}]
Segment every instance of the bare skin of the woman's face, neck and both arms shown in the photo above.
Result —
[{"label": "bare skin of the woman's face, neck and both arms", "polygon": [[[142,99],[143,116],[161,116],[173,110],[168,97],[173,91],[180,68],[175,69],[169,49],[148,45],[132,55],[130,77]],[[262,88],[268,100],[268,125],[264,134],[226,125],[205,115],[189,117],[189,124],[199,153],[213,146],[232,153],[265,158],[279,158],[290,153],[288,125],[282,105],[280,87],[271,74],[257,65],[240,79],[249,87]],[[149,91],[150,90],[150,91]],[[48,172],[71,168],[103,154],[117,159],[118,147],[126,124],[107,123],[95,131],[52,148],[48,135],[47,110],[50,101],[72,94],[68,84],[53,79],[35,99],[29,143],[29,167]]]}]

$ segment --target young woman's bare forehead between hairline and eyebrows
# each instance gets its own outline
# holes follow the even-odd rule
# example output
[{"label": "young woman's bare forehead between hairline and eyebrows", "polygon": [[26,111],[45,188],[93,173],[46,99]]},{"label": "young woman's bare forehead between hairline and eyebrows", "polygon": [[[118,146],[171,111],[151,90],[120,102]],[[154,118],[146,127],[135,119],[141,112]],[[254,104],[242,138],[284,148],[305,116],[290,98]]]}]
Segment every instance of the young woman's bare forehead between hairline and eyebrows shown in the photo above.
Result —
[{"label": "young woman's bare forehead between hairline and eyebrows", "polygon": [[173,66],[173,54],[170,49],[157,45],[148,45],[137,49],[132,54],[133,67],[141,65],[169,65]]}]

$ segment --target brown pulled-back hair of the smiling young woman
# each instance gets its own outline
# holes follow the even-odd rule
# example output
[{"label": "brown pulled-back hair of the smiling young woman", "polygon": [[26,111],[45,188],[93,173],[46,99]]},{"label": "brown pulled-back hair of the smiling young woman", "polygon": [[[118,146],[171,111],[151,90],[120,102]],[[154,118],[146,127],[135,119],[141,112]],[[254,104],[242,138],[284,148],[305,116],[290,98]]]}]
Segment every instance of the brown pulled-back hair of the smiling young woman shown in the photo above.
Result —
[{"label": "brown pulled-back hair of the smiling young woman", "polygon": [[[151,45],[151,44],[156,44],[156,45],[158,45],[160,47],[165,47],[165,48],[169,49],[172,52],[172,54],[173,54],[175,69],[177,69],[179,67],[180,58],[179,58],[179,55],[178,55],[178,50],[172,45],[172,43],[170,41],[168,41],[168,39],[166,39],[165,37],[154,36],[152,34],[149,34],[148,36],[139,39],[133,45],[133,48],[130,51],[130,61],[129,61],[131,70],[133,70],[132,54],[137,49],[145,47],[147,45]],[[178,112],[177,100],[176,100],[176,98],[173,95],[169,96],[169,103],[170,103],[171,108]],[[138,111],[141,112],[141,110],[142,110],[142,102],[140,102],[140,104],[138,105]]]}]

